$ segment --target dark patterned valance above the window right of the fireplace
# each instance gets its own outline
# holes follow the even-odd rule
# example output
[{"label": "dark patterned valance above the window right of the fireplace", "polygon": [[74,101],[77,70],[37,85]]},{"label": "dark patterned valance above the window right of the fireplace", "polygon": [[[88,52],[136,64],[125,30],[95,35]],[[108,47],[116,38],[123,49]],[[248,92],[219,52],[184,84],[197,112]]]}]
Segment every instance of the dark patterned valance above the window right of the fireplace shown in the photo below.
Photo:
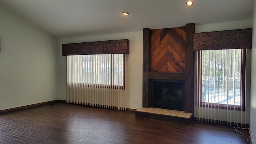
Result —
[{"label": "dark patterned valance above the window right of the fireplace", "polygon": [[194,51],[236,48],[252,48],[252,28],[194,34]]}]

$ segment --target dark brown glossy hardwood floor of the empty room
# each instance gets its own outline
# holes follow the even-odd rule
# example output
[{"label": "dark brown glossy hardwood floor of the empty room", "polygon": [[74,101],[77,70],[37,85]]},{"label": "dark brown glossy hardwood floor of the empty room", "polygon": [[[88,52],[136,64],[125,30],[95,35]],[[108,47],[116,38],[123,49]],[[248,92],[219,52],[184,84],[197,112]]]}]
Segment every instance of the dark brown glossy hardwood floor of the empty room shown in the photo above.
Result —
[{"label": "dark brown glossy hardwood floor of the empty room", "polygon": [[250,144],[232,126],[190,126],[56,102],[0,113],[0,144]]}]

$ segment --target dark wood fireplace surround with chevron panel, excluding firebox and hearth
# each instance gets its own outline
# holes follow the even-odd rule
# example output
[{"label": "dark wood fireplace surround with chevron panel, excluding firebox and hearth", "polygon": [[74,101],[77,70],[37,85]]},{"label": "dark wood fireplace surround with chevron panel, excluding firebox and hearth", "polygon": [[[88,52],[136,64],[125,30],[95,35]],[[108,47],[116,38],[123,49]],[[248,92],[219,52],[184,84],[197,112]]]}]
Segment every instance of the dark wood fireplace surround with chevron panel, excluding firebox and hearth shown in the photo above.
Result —
[{"label": "dark wood fireplace surround with chevron panel, excluding firebox and hearth", "polygon": [[194,114],[194,24],[179,28],[143,29],[143,101],[151,104],[151,81],[183,80],[184,111]]}]

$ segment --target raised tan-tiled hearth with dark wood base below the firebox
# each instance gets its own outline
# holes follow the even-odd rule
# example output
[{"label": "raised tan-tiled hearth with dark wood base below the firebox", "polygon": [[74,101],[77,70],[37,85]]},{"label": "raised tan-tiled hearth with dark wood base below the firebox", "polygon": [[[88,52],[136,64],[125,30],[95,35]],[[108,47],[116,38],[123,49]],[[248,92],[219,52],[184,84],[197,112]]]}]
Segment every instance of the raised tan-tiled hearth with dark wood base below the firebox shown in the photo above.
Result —
[{"label": "raised tan-tiled hearth with dark wood base below the firebox", "polygon": [[136,111],[136,117],[189,125],[192,121],[193,114],[162,108],[140,108]]}]

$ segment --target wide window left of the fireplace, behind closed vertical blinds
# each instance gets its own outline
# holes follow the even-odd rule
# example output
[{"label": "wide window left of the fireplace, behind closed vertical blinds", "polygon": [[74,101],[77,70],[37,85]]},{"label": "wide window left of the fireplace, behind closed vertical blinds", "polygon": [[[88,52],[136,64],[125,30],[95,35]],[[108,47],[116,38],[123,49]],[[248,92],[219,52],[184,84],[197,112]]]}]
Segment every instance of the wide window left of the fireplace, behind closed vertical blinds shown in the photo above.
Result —
[{"label": "wide window left of the fireplace, behind closed vertical blinds", "polygon": [[124,86],[124,54],[68,56],[68,83]]}]

